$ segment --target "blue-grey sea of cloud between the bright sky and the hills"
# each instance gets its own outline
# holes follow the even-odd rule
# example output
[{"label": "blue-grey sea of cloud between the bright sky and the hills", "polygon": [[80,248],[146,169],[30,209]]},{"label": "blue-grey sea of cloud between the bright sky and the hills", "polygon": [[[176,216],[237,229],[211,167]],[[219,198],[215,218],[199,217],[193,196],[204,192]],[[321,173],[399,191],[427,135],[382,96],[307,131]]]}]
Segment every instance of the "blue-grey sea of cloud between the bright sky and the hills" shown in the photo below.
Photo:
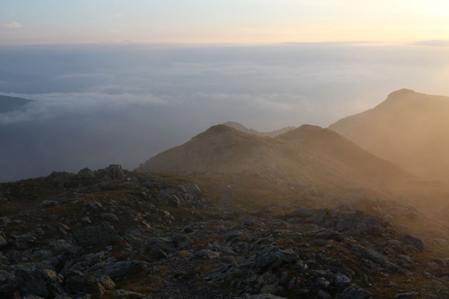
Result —
[{"label": "blue-grey sea of cloud between the bright sky and the hills", "polygon": [[0,181],[122,164],[228,120],[326,127],[400,88],[449,94],[444,47],[353,43],[0,47]]}]

